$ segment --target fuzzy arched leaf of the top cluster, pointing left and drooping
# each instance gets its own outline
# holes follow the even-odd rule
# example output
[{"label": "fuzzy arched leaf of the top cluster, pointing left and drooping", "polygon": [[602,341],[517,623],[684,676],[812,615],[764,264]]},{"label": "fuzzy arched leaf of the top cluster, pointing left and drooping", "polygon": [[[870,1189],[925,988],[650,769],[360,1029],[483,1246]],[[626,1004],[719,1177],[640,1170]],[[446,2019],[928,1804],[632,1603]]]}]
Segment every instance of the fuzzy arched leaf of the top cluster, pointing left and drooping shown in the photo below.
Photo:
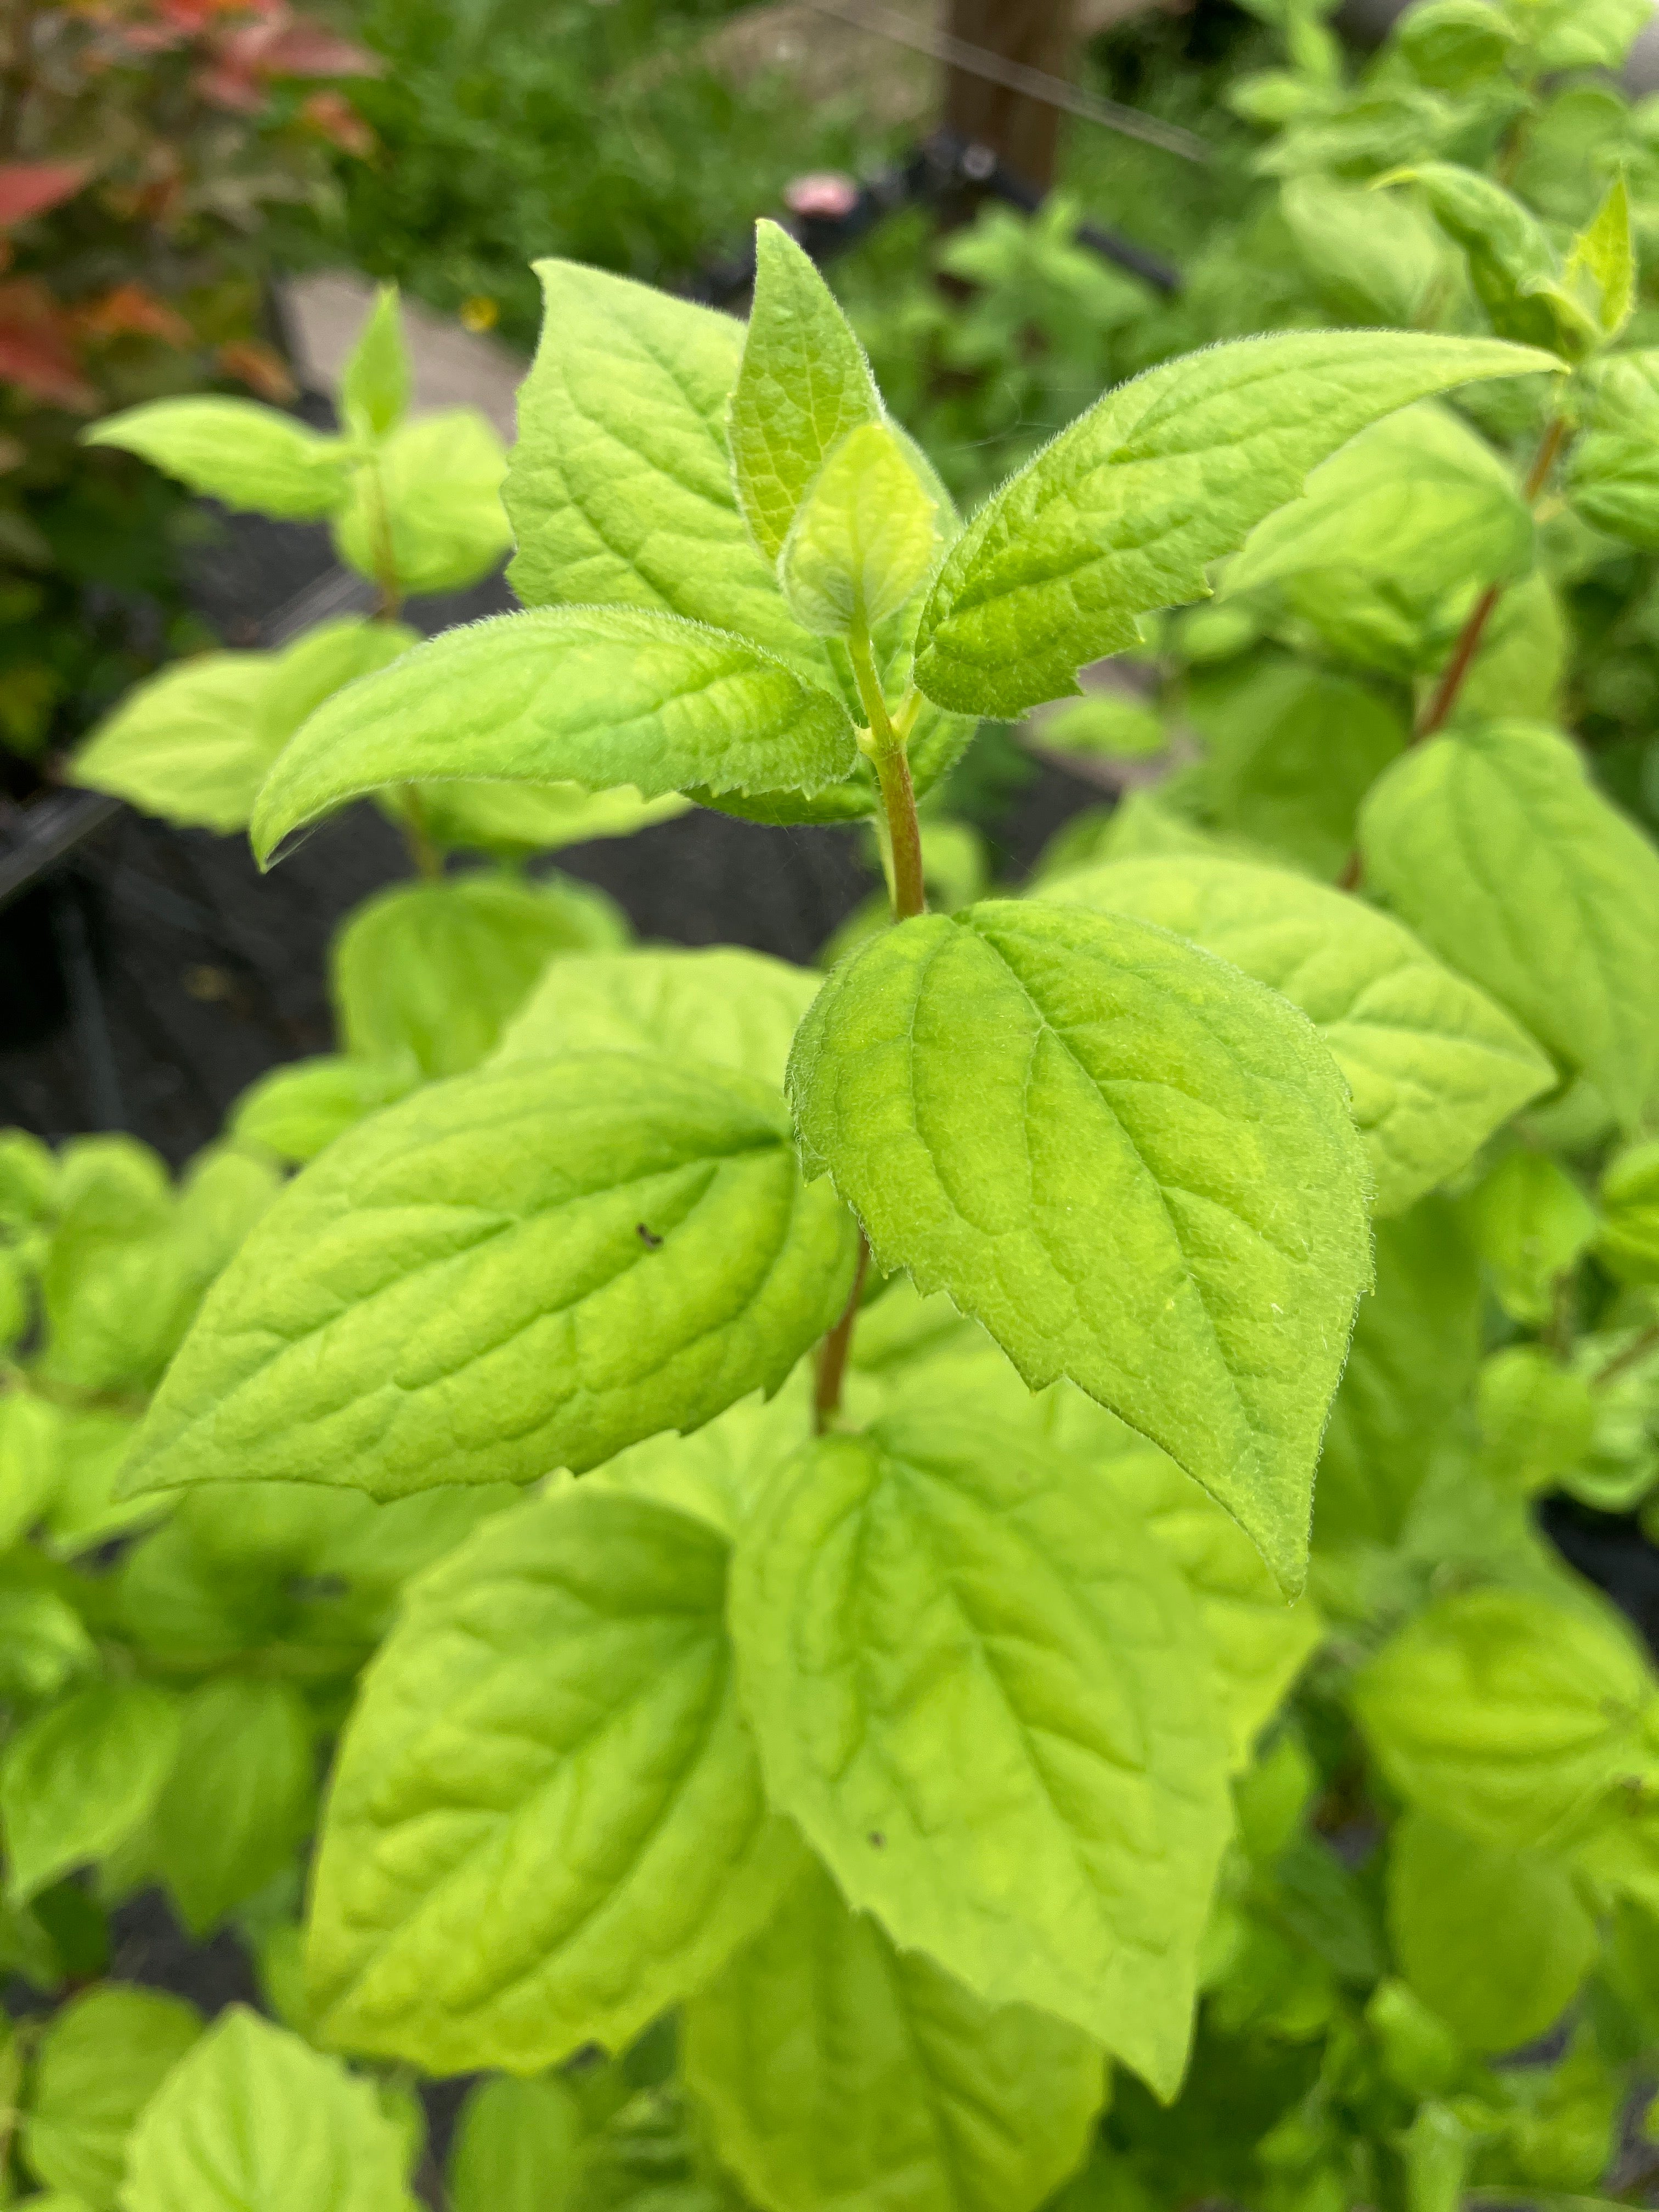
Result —
[{"label": "fuzzy arched leaf of the top cluster, pointing left and drooping", "polygon": [[633,783],[657,799],[814,790],[858,750],[838,699],[743,637],[566,606],[447,630],[312,714],[254,810],[254,852],[383,783]]}]

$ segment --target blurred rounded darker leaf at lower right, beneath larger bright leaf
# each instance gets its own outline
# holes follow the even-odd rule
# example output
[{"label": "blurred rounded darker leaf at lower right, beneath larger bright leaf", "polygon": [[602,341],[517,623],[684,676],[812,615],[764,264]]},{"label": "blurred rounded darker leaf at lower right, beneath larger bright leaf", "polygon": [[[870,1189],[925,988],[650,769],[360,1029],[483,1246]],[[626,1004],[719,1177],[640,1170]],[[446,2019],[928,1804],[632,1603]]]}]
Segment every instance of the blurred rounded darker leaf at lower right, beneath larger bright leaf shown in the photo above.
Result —
[{"label": "blurred rounded darker leaf at lower right, beneath larger bright leaf", "polygon": [[1409,1986],[1471,2051],[1553,2028],[1601,1949],[1562,1860],[1422,1812],[1389,1838],[1389,1938]]}]

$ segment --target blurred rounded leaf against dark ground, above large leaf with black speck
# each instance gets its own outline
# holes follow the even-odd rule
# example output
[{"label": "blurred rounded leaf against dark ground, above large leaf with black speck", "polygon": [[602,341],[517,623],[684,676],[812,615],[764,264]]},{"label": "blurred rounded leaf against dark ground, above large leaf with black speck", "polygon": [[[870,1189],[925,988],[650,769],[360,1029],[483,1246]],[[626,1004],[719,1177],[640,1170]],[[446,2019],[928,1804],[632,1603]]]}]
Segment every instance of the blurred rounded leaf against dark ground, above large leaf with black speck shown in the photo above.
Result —
[{"label": "blurred rounded leaf against dark ground, above large leaf with black speck", "polygon": [[549,960],[624,945],[602,891],[571,878],[467,874],[367,898],[330,949],[341,1044],[358,1060],[462,1075],[493,1048]]}]

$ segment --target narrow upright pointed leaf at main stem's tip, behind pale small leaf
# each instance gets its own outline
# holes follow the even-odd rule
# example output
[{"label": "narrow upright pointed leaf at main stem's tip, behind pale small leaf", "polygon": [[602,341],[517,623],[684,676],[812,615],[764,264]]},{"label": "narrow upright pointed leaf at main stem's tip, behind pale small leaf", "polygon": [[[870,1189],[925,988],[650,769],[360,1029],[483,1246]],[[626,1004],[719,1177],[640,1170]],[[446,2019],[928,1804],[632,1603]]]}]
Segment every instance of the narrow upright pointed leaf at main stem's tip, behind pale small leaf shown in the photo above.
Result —
[{"label": "narrow upright pointed leaf at main stem's tip, behind pale small leaf", "polygon": [[878,425],[883,409],[834,292],[790,232],[757,223],[754,252],[754,312],[728,436],[739,507],[765,560],[776,562],[832,449],[847,431]]}]

